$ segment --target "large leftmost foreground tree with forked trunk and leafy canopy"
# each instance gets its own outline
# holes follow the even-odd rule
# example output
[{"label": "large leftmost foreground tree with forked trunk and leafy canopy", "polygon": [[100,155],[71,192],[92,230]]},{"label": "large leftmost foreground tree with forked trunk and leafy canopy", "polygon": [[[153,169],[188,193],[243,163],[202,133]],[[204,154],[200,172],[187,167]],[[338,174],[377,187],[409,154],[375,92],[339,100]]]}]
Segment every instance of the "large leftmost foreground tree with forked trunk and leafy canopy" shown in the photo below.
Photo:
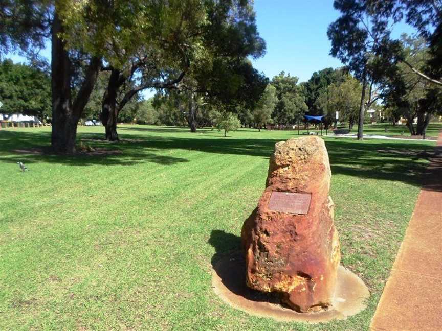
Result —
[{"label": "large leftmost foreground tree with forked trunk and leafy canopy", "polygon": [[[89,100],[98,73],[107,63],[120,65],[141,43],[149,42],[151,11],[143,1],[55,1],[52,23],[52,147],[75,151],[78,120]],[[118,50],[125,49],[121,54]],[[74,55],[86,63],[83,81],[71,100]],[[79,55],[79,56],[78,56]]]}]

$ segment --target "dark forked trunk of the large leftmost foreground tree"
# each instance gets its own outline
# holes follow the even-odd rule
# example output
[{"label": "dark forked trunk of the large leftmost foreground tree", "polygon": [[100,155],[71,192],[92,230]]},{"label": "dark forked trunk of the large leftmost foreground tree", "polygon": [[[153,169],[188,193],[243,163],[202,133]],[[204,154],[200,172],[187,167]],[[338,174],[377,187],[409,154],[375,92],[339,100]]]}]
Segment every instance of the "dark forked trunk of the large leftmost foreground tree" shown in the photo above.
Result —
[{"label": "dark forked trunk of the large leftmost foreground tree", "polygon": [[98,77],[101,59],[94,57],[86,69],[84,81],[75,101],[71,97],[71,61],[65,43],[59,37],[63,27],[57,14],[52,25],[51,89],[52,135],[51,147],[55,153],[75,153],[77,124],[89,100]]}]

